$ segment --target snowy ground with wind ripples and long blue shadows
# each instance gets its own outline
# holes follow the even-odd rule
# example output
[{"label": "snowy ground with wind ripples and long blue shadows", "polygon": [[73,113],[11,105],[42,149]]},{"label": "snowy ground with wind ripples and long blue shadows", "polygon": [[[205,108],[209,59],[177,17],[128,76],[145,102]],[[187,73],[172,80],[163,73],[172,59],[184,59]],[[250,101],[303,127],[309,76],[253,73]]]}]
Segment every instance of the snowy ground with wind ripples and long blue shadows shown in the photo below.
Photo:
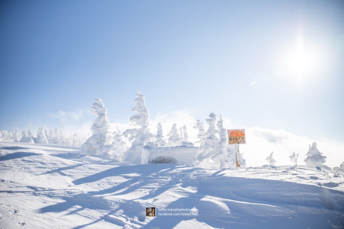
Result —
[{"label": "snowy ground with wind ripples and long blue shadows", "polygon": [[[0,142],[0,227],[344,227],[341,173],[130,165],[77,152]],[[146,206],[157,217],[145,217]]]}]

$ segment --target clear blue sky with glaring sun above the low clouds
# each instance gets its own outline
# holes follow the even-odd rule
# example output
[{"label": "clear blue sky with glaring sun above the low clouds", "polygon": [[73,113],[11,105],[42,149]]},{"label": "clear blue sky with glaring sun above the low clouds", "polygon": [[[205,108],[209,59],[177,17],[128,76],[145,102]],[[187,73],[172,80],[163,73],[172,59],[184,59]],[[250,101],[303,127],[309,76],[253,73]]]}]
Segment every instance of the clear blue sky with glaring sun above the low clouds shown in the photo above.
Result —
[{"label": "clear blue sky with glaring sun above the low clouds", "polygon": [[141,90],[152,119],[215,112],[344,142],[343,1],[0,4],[0,129],[63,129],[54,114],[98,97],[128,122]]}]

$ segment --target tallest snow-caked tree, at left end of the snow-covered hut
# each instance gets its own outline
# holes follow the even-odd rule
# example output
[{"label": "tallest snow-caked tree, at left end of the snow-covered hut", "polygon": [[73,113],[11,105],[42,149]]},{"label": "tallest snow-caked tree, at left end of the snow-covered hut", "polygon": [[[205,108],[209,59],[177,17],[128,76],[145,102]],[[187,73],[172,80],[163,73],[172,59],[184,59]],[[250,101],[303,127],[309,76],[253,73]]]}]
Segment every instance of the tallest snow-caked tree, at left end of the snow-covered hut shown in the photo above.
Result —
[{"label": "tallest snow-caked tree, at left end of the snow-covered hut", "polygon": [[129,121],[138,128],[128,129],[123,134],[132,141],[131,147],[125,152],[124,160],[134,164],[141,164],[141,154],[144,145],[151,140],[153,135],[149,132],[149,112],[144,101],[144,95],[136,92],[135,107],[131,111],[137,113],[129,118]]}]

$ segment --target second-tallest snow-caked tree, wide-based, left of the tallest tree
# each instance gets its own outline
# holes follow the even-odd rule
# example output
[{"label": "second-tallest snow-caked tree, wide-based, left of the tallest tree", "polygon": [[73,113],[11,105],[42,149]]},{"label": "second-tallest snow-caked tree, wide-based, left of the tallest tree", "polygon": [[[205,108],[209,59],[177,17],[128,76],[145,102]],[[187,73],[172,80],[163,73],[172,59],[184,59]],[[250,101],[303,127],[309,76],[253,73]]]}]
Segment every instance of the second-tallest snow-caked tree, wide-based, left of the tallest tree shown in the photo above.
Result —
[{"label": "second-tallest snow-caked tree, wide-based, left of the tallest tree", "polygon": [[[106,115],[107,110],[101,99],[95,99],[95,102],[92,104],[91,112],[97,116],[91,127],[92,136],[81,146],[80,153],[110,157],[108,154],[111,149],[111,145],[109,144],[110,123]],[[70,139],[68,141],[68,143],[71,144]]]}]

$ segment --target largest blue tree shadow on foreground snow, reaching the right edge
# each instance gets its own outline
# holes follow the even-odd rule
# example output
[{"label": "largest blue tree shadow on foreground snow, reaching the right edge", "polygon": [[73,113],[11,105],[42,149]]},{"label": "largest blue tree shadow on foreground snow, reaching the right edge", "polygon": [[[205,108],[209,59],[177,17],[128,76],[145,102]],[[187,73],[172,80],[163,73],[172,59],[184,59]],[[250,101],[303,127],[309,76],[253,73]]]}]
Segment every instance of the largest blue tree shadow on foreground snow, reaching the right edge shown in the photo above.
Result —
[{"label": "largest blue tree shadow on foreground snow, reaching the right edge", "polygon": [[[72,207],[76,209],[67,214],[75,214],[86,208],[108,211],[107,214],[95,221],[74,229],[95,224],[100,220],[119,226],[126,224],[111,215],[125,215],[132,219],[137,217],[141,223],[138,221],[134,223],[141,225],[142,228],[166,229],[180,226],[179,224],[182,224],[183,221],[192,219],[197,220],[200,227],[204,226],[205,228],[207,225],[215,228],[239,229],[327,228],[330,226],[329,222],[340,221],[344,224],[342,219],[344,213],[343,192],[286,181],[224,176],[218,174],[219,171],[210,175],[194,174],[194,171],[201,170],[199,168],[177,171],[180,168],[176,165],[171,166],[171,164],[111,168],[77,179],[73,183],[80,185],[110,176],[122,176],[130,179],[105,190],[60,196],[65,202],[44,207],[40,211],[42,213],[62,212]],[[130,175],[133,173],[139,176]],[[179,176],[178,173],[184,174]],[[157,188],[154,192],[147,192],[142,197],[130,200],[121,199],[121,197],[111,200],[97,196],[104,194],[109,196],[110,194],[110,196],[116,197],[136,191],[142,194],[142,189],[153,188],[154,184]],[[162,206],[163,202],[168,201],[168,197],[159,197],[159,195],[168,190],[175,193],[175,196],[171,198],[171,202],[165,208],[198,209],[198,216],[163,216],[159,213],[187,214],[190,211],[163,211],[162,208],[157,207],[157,217],[150,218],[150,221],[144,217],[142,219],[144,203],[154,206],[152,201],[157,199],[157,203]],[[178,196],[181,197],[178,198]],[[118,212],[118,210],[120,211]]]}]

